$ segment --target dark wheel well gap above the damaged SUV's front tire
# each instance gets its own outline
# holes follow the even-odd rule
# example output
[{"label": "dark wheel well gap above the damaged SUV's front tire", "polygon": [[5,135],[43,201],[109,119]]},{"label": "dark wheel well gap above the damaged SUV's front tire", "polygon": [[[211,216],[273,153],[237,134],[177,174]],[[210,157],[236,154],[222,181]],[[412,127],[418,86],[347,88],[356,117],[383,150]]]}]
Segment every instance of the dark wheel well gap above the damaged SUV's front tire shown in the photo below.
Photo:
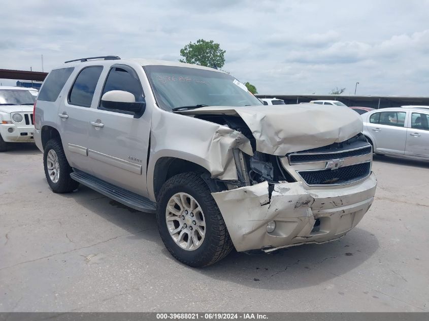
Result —
[{"label": "dark wheel well gap above the damaged SUV's front tire", "polygon": [[[161,157],[158,159],[153,172],[153,191],[155,197],[158,197],[162,185],[167,182],[168,179],[174,175],[185,172],[196,172],[209,177],[209,179],[211,176],[210,172],[203,166],[184,159],[174,157]],[[205,181],[207,182],[207,180]]]}]

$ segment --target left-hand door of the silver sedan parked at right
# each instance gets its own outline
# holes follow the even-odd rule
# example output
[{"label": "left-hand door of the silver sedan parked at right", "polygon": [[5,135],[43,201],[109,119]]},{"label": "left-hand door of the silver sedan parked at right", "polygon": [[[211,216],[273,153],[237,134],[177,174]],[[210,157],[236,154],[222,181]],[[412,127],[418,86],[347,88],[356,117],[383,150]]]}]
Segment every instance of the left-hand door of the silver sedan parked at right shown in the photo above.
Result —
[{"label": "left-hand door of the silver sedan parked at right", "polygon": [[370,115],[367,123],[376,152],[394,154],[405,153],[407,128],[405,127],[406,112],[380,112]]}]

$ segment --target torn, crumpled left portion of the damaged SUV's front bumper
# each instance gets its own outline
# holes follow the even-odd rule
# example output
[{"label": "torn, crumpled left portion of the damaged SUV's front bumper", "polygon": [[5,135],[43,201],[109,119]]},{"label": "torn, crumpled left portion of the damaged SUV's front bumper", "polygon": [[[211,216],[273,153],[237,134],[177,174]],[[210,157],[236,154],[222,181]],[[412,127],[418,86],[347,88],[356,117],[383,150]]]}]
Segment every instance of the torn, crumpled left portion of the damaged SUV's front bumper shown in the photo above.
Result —
[{"label": "torn, crumpled left portion of the damaged SUV's front bumper", "polygon": [[[212,193],[212,196],[239,252],[271,247],[273,237],[308,235],[315,223],[310,208],[314,198],[301,182],[275,184],[271,196],[267,182]],[[266,226],[274,219],[277,225],[283,226],[269,235]]]}]

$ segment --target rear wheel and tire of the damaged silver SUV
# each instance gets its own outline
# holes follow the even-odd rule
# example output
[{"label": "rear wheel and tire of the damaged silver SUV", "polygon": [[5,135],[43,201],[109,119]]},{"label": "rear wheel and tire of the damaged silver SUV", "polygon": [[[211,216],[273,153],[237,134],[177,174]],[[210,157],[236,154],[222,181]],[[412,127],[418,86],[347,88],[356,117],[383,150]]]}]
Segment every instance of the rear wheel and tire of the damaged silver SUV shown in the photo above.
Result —
[{"label": "rear wheel and tire of the damaged silver SUV", "polygon": [[[48,163],[52,165],[50,160],[55,158],[57,162],[53,167],[58,172],[58,176],[54,176],[54,178],[50,175],[50,173],[52,174],[52,171],[50,172],[52,166],[48,169]],[[79,183],[72,180],[72,177],[70,177],[70,173],[73,169],[67,161],[67,158],[65,158],[64,150],[62,149],[62,144],[59,139],[50,139],[46,143],[43,153],[43,167],[45,168],[46,180],[54,193],[70,193],[78,188]]]}]

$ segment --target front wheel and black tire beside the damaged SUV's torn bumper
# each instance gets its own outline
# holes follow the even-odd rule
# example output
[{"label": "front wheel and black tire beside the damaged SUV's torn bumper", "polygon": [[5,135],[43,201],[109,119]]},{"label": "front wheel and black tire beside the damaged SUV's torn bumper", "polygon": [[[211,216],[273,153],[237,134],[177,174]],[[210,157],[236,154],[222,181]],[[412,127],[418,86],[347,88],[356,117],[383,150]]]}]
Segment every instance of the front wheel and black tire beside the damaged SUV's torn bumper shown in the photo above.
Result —
[{"label": "front wheel and black tire beside the damaged SUV's torn bumper", "polygon": [[[177,196],[179,194],[184,195],[185,202],[182,202],[182,204],[186,203],[187,205],[176,206],[175,200],[182,199],[182,197]],[[186,199],[186,195],[192,197],[193,200],[191,198]],[[171,204],[173,203],[175,208],[172,208]],[[188,206],[189,204],[190,207]],[[167,205],[170,205],[169,208],[176,211],[176,214],[170,210],[167,211]],[[187,212],[186,208],[192,209],[195,207],[196,209],[193,209],[195,211],[194,215],[192,211],[185,214]],[[177,216],[177,213],[179,213],[179,216]],[[187,215],[185,220],[180,220],[185,215]],[[169,225],[167,224],[167,217],[173,218],[173,220],[169,221]],[[197,222],[196,225],[193,219]],[[220,210],[210,194],[209,187],[201,176],[196,173],[181,173],[171,177],[164,183],[157,197],[156,221],[161,239],[171,255],[191,267],[211,265],[227,256],[234,247]],[[195,228],[189,231],[191,227],[187,226],[186,222],[192,224]],[[205,222],[204,229],[203,222]],[[192,236],[196,236],[196,238],[191,237],[193,249],[184,248],[184,246],[188,246],[189,237],[183,236],[184,240],[181,246],[170,235],[171,229],[177,230],[181,224],[183,224],[182,229],[184,229],[183,235],[193,233]],[[177,234],[182,233],[181,231],[179,230]],[[201,236],[201,231],[204,232],[204,237]],[[177,237],[177,234],[175,237]],[[189,236],[190,234],[187,235]],[[199,237],[201,238],[200,240],[198,239]],[[195,239],[197,242],[194,241]]]}]

